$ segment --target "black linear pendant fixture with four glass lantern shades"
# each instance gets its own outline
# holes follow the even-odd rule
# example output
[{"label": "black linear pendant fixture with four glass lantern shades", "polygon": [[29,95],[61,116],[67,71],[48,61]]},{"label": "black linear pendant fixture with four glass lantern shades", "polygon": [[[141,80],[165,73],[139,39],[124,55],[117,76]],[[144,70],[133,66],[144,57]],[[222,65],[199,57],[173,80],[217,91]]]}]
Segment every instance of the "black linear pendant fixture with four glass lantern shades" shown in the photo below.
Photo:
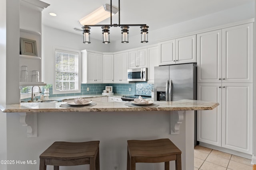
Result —
[{"label": "black linear pendant fixture with four glass lantern shades", "polygon": [[[116,8],[113,7],[115,10]],[[86,25],[82,27],[84,41],[83,43],[89,44],[90,42],[90,28],[91,27],[101,27],[102,28],[102,35],[103,35],[103,43],[108,44],[110,43],[110,27],[121,27],[122,31],[122,43],[129,43],[128,41],[128,34],[129,28],[131,26],[140,26],[141,29],[141,43],[148,43],[148,26],[146,24],[120,24],[120,0],[118,0],[118,24],[112,24],[112,0],[110,0],[110,24],[109,25]]]}]

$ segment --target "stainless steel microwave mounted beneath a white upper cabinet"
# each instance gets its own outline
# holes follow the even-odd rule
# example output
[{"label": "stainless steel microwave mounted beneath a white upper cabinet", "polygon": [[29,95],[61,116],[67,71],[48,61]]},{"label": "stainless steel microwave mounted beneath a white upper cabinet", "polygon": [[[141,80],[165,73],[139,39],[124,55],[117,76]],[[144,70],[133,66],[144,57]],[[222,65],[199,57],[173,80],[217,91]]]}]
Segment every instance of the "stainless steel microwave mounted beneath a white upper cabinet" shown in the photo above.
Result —
[{"label": "stainless steel microwave mounted beneath a white upper cabinet", "polygon": [[129,82],[146,82],[147,68],[134,68],[127,70],[127,80]]}]

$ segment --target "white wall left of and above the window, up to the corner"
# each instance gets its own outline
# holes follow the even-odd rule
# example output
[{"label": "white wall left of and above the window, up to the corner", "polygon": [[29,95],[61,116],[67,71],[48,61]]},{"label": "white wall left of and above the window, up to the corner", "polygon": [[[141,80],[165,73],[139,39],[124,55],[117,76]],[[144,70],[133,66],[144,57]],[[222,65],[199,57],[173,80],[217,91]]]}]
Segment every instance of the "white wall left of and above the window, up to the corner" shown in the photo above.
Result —
[{"label": "white wall left of and above the window, up to the corner", "polygon": [[55,80],[55,56],[54,47],[62,47],[74,50],[93,50],[100,52],[109,52],[109,45],[105,45],[102,41],[91,39],[90,44],[84,44],[83,36],[55,29],[42,25],[42,81],[47,84],[53,84]]}]

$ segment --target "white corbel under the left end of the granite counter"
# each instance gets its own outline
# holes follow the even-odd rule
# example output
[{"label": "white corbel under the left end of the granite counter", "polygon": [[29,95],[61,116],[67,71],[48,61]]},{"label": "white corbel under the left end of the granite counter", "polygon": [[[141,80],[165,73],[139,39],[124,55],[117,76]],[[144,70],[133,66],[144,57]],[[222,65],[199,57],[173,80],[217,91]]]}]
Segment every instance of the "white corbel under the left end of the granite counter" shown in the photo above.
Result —
[{"label": "white corbel under the left end of the granite counter", "polygon": [[37,113],[19,113],[20,123],[27,127],[27,137],[37,137]]}]

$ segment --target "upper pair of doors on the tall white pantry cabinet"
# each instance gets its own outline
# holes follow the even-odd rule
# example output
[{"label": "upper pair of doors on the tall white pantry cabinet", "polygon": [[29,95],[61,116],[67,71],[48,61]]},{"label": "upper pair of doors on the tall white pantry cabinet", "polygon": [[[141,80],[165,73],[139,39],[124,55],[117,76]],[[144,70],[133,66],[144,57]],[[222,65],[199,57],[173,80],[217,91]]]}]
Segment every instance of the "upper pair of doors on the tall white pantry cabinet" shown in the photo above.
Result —
[{"label": "upper pair of doors on the tall white pantry cabinet", "polygon": [[253,23],[198,34],[198,82],[252,83]]}]

